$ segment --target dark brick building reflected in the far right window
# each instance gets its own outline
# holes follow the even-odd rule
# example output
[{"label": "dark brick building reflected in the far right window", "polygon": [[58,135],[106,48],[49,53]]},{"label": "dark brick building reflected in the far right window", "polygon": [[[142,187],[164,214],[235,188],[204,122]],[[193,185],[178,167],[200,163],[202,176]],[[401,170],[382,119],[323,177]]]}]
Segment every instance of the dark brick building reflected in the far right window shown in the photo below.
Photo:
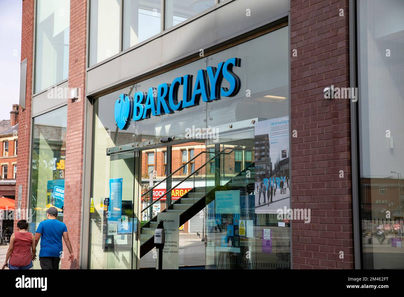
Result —
[{"label": "dark brick building reflected in the far right window", "polygon": [[394,177],[361,177],[362,219],[385,220],[386,211],[390,211],[392,220],[404,219],[401,215],[404,206],[401,183],[401,179]]}]

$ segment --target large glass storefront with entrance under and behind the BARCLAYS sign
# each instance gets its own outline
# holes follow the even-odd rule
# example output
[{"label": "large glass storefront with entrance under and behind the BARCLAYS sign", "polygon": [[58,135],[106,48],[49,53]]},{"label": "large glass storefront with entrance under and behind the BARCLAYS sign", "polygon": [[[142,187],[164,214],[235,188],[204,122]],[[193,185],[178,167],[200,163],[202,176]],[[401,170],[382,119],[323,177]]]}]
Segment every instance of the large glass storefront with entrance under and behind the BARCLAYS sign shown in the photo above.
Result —
[{"label": "large glass storefront with entrance under and behind the BARCLAYS sign", "polygon": [[[285,26],[94,99],[88,268],[156,265],[148,240],[159,213],[179,213],[179,266],[290,268],[290,222],[279,215],[290,207],[288,65]],[[200,93],[199,104],[118,128],[120,95],[163,83],[174,103]]]}]

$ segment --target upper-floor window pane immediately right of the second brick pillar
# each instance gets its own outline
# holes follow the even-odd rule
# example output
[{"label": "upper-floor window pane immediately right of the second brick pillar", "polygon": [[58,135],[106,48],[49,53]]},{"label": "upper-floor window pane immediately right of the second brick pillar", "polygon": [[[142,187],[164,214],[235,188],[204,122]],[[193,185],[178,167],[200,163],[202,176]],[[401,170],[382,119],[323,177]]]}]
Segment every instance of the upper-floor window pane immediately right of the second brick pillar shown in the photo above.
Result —
[{"label": "upper-floor window pane immediately right of the second brick pillar", "polygon": [[90,66],[120,52],[120,11],[120,0],[91,1]]}]

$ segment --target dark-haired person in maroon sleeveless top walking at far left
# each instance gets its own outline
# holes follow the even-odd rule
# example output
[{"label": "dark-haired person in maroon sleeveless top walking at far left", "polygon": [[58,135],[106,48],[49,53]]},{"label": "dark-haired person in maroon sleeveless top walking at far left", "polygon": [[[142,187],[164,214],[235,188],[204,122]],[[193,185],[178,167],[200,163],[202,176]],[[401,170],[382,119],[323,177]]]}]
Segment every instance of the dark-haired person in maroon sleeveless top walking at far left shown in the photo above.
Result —
[{"label": "dark-haired person in maroon sleeveless top walking at far left", "polygon": [[[11,235],[10,246],[6,255],[6,261],[2,269],[8,266],[9,269],[29,269],[32,268],[32,261],[36,257],[35,237],[31,232],[27,232],[28,223],[19,220],[17,223],[18,232]],[[8,262],[10,259],[10,262]]]}]

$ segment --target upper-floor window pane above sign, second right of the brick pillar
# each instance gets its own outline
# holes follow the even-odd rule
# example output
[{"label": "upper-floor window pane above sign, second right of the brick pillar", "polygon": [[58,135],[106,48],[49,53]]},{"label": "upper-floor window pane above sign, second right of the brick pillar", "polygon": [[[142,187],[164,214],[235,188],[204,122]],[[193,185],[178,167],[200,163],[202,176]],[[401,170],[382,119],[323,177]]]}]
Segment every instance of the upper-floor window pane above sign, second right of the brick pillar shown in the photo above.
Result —
[{"label": "upper-floor window pane above sign, second right of the brick pillar", "polygon": [[124,0],[123,49],[161,32],[161,0]]}]

